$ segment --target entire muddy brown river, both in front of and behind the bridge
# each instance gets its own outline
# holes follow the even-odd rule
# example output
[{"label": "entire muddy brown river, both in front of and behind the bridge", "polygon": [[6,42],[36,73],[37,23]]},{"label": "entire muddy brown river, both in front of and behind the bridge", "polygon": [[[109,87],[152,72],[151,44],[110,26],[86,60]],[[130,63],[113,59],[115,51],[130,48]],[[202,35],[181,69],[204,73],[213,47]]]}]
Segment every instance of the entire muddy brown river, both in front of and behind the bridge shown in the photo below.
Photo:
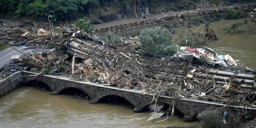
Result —
[{"label": "entire muddy brown river, both in front of and behind the bridge", "polygon": [[[248,33],[227,34],[222,30],[234,20],[211,23],[219,40],[208,47],[239,59],[239,65],[256,69],[256,35]],[[90,104],[83,98],[71,95],[52,96],[51,91],[34,87],[21,87],[0,98],[0,128],[34,127],[146,127],[195,126],[199,121],[185,123],[174,116],[170,122],[146,121],[149,112],[133,113],[132,105]]]}]

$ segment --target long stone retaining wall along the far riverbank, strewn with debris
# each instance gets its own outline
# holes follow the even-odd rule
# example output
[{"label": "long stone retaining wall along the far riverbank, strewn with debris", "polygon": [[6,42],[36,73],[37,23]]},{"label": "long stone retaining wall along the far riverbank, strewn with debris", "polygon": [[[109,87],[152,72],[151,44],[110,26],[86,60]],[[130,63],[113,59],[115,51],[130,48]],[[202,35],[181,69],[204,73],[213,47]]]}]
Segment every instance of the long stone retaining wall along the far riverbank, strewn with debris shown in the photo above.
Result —
[{"label": "long stone retaining wall along the far riverbank, strewn with debris", "polygon": [[[251,5],[246,5],[243,6],[243,8],[246,8],[247,6]],[[169,15],[166,17],[159,17],[155,19],[146,19],[146,20],[141,20],[138,22],[133,22],[129,24],[123,24],[123,25],[116,25],[116,26],[110,26],[110,27],[105,27],[101,29],[95,29],[95,32],[98,33],[99,35],[104,35],[106,32],[111,31],[117,35],[127,35],[127,33],[132,33],[136,31],[141,31],[143,28],[154,28],[154,27],[159,27],[164,24],[173,22],[173,21],[180,21],[181,19],[189,20],[190,17],[209,17],[211,14],[218,14],[218,15],[225,15],[227,12],[228,8],[224,9],[215,9],[215,10],[200,10],[199,12],[189,12],[185,11],[184,13],[177,13],[176,15]]]}]

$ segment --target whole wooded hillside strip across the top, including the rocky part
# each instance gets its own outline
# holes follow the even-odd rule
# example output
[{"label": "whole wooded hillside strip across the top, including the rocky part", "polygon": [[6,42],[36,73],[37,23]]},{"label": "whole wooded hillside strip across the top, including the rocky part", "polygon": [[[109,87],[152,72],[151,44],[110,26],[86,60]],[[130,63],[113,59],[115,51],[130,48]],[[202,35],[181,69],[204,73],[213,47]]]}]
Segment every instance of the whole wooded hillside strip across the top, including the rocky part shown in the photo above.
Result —
[{"label": "whole wooded hillside strip across the top, including the rocky part", "polygon": [[[196,9],[202,4],[200,0],[0,0],[0,16],[18,15],[46,19],[48,15],[54,15],[55,18],[64,20],[87,14],[109,15],[118,11],[131,16],[131,2],[143,2],[143,6],[149,7],[151,13]],[[209,2],[220,4],[220,0]]]}]

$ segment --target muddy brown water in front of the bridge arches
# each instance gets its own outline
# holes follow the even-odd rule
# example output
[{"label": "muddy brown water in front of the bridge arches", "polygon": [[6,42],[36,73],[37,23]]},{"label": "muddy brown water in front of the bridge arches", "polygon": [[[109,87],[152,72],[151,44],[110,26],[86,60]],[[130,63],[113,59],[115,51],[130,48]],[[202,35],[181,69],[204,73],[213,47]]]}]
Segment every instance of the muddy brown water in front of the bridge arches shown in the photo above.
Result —
[{"label": "muddy brown water in front of the bridge arches", "polygon": [[51,95],[34,87],[20,87],[0,98],[0,128],[84,127],[84,128],[166,128],[170,125],[199,125],[185,123],[174,116],[172,122],[146,121],[148,112],[133,113],[132,105],[90,104],[71,95]]}]

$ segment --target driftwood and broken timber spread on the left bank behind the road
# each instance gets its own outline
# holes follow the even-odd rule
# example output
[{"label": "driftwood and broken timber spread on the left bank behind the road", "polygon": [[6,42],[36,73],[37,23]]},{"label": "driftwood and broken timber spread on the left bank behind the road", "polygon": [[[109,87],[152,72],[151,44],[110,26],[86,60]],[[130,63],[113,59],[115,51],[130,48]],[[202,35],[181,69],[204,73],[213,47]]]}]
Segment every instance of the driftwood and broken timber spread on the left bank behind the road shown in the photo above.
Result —
[{"label": "driftwood and broken timber spread on the left bank behind the road", "polygon": [[47,31],[37,27],[37,25],[34,28],[0,28],[0,41],[11,43],[13,46],[43,46],[61,42],[66,38],[66,35],[71,34],[71,31],[61,32],[62,28],[55,28],[59,29],[59,32]]}]

